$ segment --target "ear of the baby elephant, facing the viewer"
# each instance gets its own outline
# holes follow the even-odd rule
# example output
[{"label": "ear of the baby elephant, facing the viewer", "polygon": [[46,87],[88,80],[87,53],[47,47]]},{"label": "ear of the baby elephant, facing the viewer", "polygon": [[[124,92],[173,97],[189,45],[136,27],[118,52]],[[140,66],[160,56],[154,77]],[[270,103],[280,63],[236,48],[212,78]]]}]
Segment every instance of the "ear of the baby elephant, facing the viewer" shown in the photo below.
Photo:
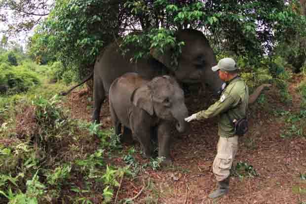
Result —
[{"label": "ear of the baby elephant, facing the viewer", "polygon": [[131,102],[153,116],[152,90],[149,85],[136,88],[131,96]]}]

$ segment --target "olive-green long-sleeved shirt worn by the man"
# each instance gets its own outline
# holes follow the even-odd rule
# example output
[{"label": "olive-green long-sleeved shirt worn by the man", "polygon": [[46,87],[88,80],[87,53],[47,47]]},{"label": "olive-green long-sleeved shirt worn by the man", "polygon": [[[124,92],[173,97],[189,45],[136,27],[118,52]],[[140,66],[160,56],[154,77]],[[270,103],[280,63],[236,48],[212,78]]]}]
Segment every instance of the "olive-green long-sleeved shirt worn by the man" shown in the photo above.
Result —
[{"label": "olive-green long-sleeved shirt worn by the man", "polygon": [[[207,110],[196,113],[196,119],[207,119],[218,115],[218,135],[220,137],[232,137],[234,135],[234,127],[232,122],[229,122],[229,118],[231,120],[244,118],[248,102],[248,86],[240,78],[234,78],[229,81],[217,102]],[[229,118],[226,112],[228,112]]]}]

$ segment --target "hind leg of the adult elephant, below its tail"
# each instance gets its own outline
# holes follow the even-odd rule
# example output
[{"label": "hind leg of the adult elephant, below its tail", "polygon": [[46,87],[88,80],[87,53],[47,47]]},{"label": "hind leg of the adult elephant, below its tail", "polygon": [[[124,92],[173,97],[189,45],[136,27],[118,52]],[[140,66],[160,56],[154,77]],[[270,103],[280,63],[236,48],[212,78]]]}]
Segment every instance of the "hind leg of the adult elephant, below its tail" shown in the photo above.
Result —
[{"label": "hind leg of the adult elephant, below its tail", "polygon": [[105,99],[105,90],[101,79],[96,79],[96,78],[94,79],[93,94],[94,94],[94,105],[93,105],[94,110],[92,114],[92,121],[100,123],[101,106]]}]

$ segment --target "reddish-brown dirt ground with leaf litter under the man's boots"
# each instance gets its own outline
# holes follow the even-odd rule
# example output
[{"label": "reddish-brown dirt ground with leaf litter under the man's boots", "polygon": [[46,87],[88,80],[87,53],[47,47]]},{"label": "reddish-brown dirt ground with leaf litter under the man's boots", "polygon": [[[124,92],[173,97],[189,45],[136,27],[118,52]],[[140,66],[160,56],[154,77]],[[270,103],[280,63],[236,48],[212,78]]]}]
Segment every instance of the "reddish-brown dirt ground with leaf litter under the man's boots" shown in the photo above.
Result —
[{"label": "reddish-brown dirt ground with leaf litter under the man's boots", "polygon": [[[301,173],[306,174],[306,138],[281,138],[286,124],[273,114],[276,110],[300,111],[301,98],[295,88],[300,81],[301,77],[294,76],[290,83],[292,103],[281,103],[277,87],[271,87],[265,90],[267,102],[255,103],[250,109],[249,132],[239,138],[236,161],[252,165],[259,176],[231,177],[229,194],[214,201],[209,199],[208,194],[216,187],[212,163],[218,141],[217,119],[195,121],[184,134],[174,132],[173,166],[148,169],[137,178],[124,177],[117,201],[136,196],[135,204],[306,204],[306,180],[300,178]],[[207,108],[213,103],[211,98],[209,92],[187,94],[190,114]],[[73,118],[90,120],[92,101],[86,89],[73,92],[68,101]],[[107,103],[103,105],[101,121],[103,128],[111,126]],[[138,143],[135,149],[139,150]],[[139,163],[149,162],[139,154],[135,157]],[[115,162],[122,163],[122,158]]]}]

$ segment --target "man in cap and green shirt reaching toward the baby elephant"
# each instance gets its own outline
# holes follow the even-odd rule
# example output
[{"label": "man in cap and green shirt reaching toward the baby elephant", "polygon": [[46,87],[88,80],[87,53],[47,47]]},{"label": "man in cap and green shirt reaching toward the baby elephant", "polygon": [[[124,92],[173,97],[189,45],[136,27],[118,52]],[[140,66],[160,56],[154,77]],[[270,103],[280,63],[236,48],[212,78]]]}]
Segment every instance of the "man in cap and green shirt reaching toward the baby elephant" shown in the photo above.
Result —
[{"label": "man in cap and green shirt reaching toward the baby elephant", "polygon": [[223,58],[217,66],[220,79],[227,82],[220,99],[207,110],[199,111],[185,121],[207,119],[219,115],[217,155],[213,163],[213,172],[218,181],[217,190],[209,198],[217,198],[229,193],[229,174],[238,150],[238,136],[234,134],[233,122],[246,116],[249,90],[245,82],[238,77],[238,68],[231,58]]}]

